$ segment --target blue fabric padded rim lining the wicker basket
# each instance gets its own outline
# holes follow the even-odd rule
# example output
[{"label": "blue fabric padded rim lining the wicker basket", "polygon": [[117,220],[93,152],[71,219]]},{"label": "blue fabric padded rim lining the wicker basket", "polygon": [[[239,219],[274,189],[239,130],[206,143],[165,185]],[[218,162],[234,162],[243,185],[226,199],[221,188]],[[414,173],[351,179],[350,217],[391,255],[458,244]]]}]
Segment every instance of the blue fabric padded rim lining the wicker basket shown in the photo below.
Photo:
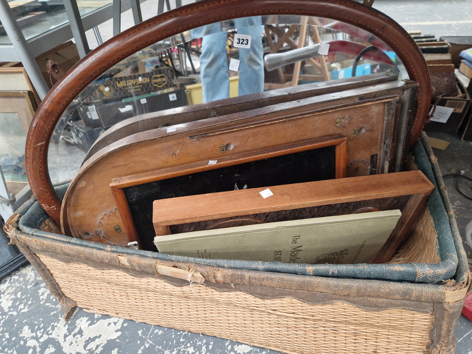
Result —
[{"label": "blue fabric padded rim lining the wicker basket", "polygon": [[[424,135],[424,134],[423,134]],[[31,198],[17,213],[22,215],[18,222],[19,229],[26,234],[44,237],[51,240],[90,247],[97,250],[115,252],[121,254],[137,254],[143,257],[164,261],[192,262],[218,268],[232,268],[244,270],[261,270],[279,273],[300,274],[307,276],[333,277],[333,278],[358,278],[358,279],[383,279],[393,281],[406,281],[415,283],[437,284],[446,279],[453,278],[458,265],[457,237],[451,231],[450,219],[447,215],[443,199],[438,191],[437,171],[433,171],[427,151],[429,143],[426,135],[417,141],[413,148],[415,162],[434,184],[435,188],[428,200],[428,207],[438,234],[438,253],[441,258],[439,263],[407,263],[407,264],[298,264],[261,261],[202,259],[169,255],[165,253],[135,250],[114,245],[99,244],[64,235],[52,234],[38,230],[48,215],[42,210],[38,202]],[[440,175],[439,175],[440,177]],[[442,185],[442,178],[438,179]],[[56,193],[62,198],[67,190],[68,183],[56,186]],[[444,197],[444,195],[443,195]],[[446,196],[447,197],[447,196]],[[455,220],[454,220],[455,222]]]}]

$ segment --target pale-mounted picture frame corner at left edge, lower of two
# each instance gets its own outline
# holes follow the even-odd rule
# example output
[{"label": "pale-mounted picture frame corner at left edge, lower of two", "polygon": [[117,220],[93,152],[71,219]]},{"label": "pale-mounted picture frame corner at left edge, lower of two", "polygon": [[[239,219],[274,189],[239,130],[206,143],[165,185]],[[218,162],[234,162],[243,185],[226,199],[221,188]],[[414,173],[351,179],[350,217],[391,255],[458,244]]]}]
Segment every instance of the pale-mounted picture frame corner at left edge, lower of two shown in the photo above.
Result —
[{"label": "pale-mounted picture frame corner at left edge, lower of two", "polygon": [[28,135],[36,109],[36,101],[31,91],[0,91],[0,112],[17,113],[25,136]]}]

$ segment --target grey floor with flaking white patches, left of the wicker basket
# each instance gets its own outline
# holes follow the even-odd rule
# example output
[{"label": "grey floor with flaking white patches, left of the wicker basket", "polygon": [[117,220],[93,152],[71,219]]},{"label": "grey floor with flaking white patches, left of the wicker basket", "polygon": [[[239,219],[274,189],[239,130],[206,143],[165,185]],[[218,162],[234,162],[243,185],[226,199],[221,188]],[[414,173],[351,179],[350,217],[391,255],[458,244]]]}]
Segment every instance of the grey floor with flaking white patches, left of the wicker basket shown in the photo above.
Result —
[{"label": "grey floor with flaking white patches, left of the wicker basket", "polygon": [[221,338],[61,306],[31,265],[0,283],[1,354],[276,354]]}]

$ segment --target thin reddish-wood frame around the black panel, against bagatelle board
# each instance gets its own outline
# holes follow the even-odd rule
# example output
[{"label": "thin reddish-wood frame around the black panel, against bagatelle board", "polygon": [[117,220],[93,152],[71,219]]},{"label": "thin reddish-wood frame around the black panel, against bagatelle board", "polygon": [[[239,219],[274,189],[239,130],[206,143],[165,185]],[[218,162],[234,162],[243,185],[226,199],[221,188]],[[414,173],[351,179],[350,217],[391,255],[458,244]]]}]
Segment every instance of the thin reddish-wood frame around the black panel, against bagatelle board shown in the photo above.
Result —
[{"label": "thin reddish-wood frame around the black panel, against bagatelle board", "polygon": [[131,211],[126,199],[124,189],[135,185],[142,185],[144,183],[159,181],[172,177],[185,176],[193,173],[207,171],[211,169],[221,169],[227,166],[239,165],[246,162],[263,160],[281,155],[288,155],[296,152],[319,149],[327,146],[335,146],[335,176],[336,178],[346,177],[346,154],[347,154],[347,139],[342,135],[327,136],[320,139],[312,139],[292,144],[278,146],[277,148],[261,149],[257,154],[246,154],[243,156],[230,157],[214,165],[203,166],[185,166],[184,168],[171,168],[167,170],[151,171],[149,173],[142,173],[138,175],[124,176],[115,178],[110,183],[110,189],[115,198],[121,221],[123,222],[124,230],[128,235],[128,241],[138,243],[141,249],[142,244],[138,232],[136,230],[135,222],[131,215]]}]

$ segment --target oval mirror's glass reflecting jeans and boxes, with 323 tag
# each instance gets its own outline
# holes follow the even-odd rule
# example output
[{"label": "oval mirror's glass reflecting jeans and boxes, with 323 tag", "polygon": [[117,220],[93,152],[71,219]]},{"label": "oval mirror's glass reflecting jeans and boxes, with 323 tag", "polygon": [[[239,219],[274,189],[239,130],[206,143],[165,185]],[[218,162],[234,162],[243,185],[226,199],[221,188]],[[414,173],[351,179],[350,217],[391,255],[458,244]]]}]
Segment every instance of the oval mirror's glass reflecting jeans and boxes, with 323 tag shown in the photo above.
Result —
[{"label": "oval mirror's glass reflecting jeans and boxes, with 323 tag", "polygon": [[194,28],[132,54],[75,98],[51,137],[51,182],[73,178],[97,139],[126,119],[379,72],[408,78],[387,44],[328,18],[255,16]]}]

